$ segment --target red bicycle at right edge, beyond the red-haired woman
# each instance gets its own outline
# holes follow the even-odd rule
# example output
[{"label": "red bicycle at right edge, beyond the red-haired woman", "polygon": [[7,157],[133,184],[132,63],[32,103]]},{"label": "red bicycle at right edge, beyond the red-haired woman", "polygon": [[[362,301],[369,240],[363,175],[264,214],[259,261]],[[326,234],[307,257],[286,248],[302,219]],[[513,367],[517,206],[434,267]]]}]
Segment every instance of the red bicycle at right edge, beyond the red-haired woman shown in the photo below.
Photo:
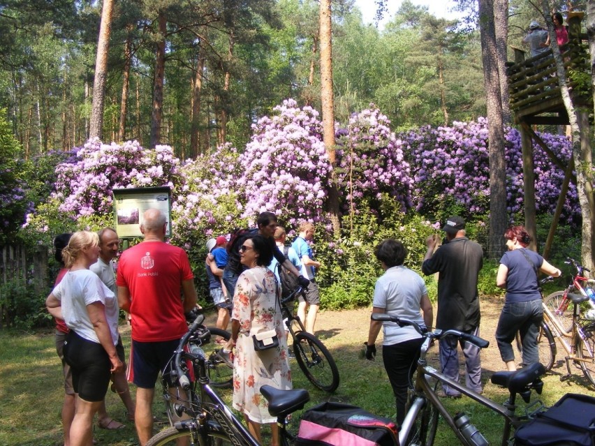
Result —
[{"label": "red bicycle at right edge, beyond the red-haired woman", "polygon": [[[585,273],[590,273],[591,271],[588,268],[580,265],[580,263],[578,263],[573,258],[567,257],[564,263],[566,263],[566,265],[573,265],[573,267],[576,269],[576,274],[573,276],[570,285],[568,285],[565,290],[552,292],[552,294],[548,295],[548,297],[545,297],[543,302],[545,306],[548,306],[548,309],[550,309],[552,316],[559,322],[561,334],[566,334],[568,337],[571,337],[570,333],[572,329],[572,314],[570,311],[566,311],[568,309],[568,305],[570,304],[568,293],[587,296],[586,285],[591,279],[589,279]],[[592,299],[589,299],[588,301],[592,309],[595,309],[594,299],[595,298],[592,297]]]}]

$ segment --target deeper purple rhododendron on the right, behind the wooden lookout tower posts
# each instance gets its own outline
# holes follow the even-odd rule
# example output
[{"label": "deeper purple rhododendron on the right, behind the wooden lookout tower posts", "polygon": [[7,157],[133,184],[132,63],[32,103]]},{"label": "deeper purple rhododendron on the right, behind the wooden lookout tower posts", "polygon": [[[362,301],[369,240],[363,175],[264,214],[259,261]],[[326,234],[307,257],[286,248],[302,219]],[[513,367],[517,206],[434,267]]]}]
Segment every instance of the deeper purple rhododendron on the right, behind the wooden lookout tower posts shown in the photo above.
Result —
[{"label": "deeper purple rhododendron on the right, behind the wooden lookout tower posts", "polygon": [[[566,163],[571,144],[561,135],[540,133],[545,144]],[[420,128],[404,133],[404,152],[412,166],[415,182],[413,202],[422,214],[454,202],[472,217],[490,209],[490,165],[487,120],[455,122],[452,127]],[[523,173],[520,133],[506,129],[506,191],[509,215],[523,209]],[[555,168],[541,147],[534,147],[537,212],[553,214],[564,172]],[[580,215],[576,188],[571,185],[564,206],[567,217]]]}]

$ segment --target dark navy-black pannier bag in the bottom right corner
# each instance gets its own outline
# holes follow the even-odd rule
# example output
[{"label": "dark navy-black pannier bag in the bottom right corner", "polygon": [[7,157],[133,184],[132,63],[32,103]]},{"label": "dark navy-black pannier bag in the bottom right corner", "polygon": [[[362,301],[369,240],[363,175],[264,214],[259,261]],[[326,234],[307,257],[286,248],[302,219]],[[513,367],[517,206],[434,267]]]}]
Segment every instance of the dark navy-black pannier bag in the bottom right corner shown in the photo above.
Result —
[{"label": "dark navy-black pannier bag in the bottom right corner", "polygon": [[566,394],[515,432],[515,446],[595,446],[595,398]]}]

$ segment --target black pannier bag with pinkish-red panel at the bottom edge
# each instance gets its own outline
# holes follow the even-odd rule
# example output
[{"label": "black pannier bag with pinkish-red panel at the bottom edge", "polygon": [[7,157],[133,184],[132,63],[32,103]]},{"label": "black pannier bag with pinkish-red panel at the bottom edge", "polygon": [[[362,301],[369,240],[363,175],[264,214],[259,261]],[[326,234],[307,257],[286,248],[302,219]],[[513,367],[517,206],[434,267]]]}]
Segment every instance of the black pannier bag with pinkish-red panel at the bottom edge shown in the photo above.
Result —
[{"label": "black pannier bag with pinkish-red panel at the bottom edge", "polygon": [[302,414],[297,446],[394,446],[397,426],[357,406],[321,403]]}]

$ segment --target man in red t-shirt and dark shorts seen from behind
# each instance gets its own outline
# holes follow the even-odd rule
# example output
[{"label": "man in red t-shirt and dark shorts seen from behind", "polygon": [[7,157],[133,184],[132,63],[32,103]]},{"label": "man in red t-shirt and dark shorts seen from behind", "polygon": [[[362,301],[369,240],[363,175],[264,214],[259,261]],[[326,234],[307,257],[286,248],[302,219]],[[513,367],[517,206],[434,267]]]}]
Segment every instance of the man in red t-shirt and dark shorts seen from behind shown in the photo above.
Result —
[{"label": "man in red t-shirt and dark shorts seen from behind", "polygon": [[165,243],[167,224],[159,209],[145,211],[140,225],[145,240],[122,253],[116,279],[120,308],[131,315],[132,382],[138,387],[135,424],[141,446],[152,437],[157,376],[188,329],[184,313],[196,306],[188,255]]}]

